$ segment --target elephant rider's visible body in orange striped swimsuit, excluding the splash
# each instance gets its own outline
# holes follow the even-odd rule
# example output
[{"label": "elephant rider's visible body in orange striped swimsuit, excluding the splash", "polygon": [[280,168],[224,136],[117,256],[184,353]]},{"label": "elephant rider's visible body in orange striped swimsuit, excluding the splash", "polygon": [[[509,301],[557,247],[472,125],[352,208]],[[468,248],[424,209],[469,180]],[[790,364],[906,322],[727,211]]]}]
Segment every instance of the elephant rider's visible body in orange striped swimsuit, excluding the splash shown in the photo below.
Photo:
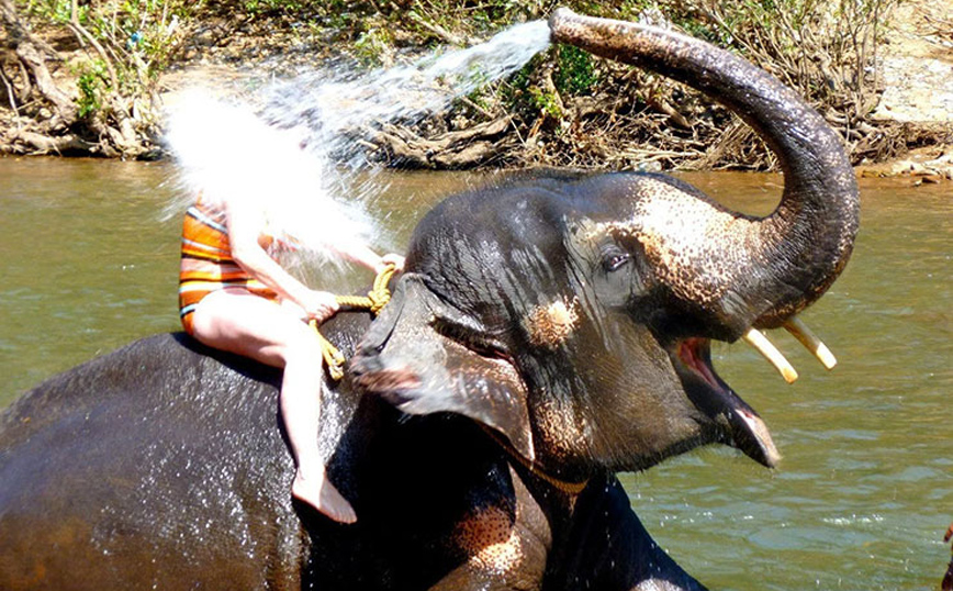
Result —
[{"label": "elephant rider's visible body in orange striped swimsuit, excluding the splash", "polygon": [[[209,203],[200,196],[188,209],[179,315],[203,345],[283,369],[279,405],[298,466],[291,492],[335,521],[354,523],[350,503],[327,480],[316,436],[324,365],[315,328],[339,306],[334,294],[306,287],[273,258],[293,248],[293,239],[271,235],[264,220],[264,204],[247,199]],[[382,257],[361,244],[338,254],[375,274],[404,264],[400,255]]]}]

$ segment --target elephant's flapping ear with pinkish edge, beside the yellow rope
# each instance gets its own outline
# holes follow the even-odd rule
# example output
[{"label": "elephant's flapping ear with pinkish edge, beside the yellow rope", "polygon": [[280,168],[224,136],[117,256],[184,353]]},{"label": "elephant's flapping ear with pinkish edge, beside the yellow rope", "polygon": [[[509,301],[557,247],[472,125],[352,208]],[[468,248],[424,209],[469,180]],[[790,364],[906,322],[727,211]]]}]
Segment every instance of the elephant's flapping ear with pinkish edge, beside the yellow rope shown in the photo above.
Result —
[{"label": "elephant's flapping ear with pinkish edge, beside the yellow rope", "polygon": [[451,338],[480,326],[447,305],[419,275],[405,274],[351,360],[359,386],[402,412],[452,412],[498,431],[535,459],[527,390],[509,361]]}]

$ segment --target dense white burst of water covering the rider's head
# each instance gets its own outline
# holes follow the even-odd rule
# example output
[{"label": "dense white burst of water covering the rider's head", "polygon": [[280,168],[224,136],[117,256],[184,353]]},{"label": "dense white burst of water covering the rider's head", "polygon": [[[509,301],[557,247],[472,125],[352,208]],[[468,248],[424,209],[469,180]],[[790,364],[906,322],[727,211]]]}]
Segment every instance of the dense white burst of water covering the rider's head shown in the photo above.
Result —
[{"label": "dense white burst of water covering the rider's head", "polygon": [[359,203],[332,198],[333,167],[319,152],[302,149],[301,130],[268,125],[247,105],[202,93],[182,99],[168,129],[192,197],[260,215],[269,232],[325,258],[367,242],[368,216]]}]

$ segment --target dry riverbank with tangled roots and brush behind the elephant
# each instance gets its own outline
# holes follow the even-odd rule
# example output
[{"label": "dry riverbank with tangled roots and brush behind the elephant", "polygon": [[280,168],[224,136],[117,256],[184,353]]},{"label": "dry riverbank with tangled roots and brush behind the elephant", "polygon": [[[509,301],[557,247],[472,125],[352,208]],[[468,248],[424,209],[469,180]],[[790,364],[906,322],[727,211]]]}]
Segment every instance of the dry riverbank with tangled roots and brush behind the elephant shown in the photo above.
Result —
[{"label": "dry riverbank with tangled roots and brush behind the elephant", "polygon": [[[413,10],[405,2],[373,4],[381,10],[368,12],[365,3],[345,2],[341,5],[354,13],[315,9],[309,14],[249,15],[212,2],[209,7],[215,10],[188,21],[170,14],[153,16],[147,37],[165,43],[156,55],[136,40],[138,32],[125,36],[113,32],[104,49],[92,43],[78,18],[51,23],[25,16],[22,4],[0,0],[8,12],[12,13],[10,7],[21,8],[16,16],[29,31],[16,37],[9,15],[0,29],[0,35],[5,35],[0,42],[7,47],[0,56],[0,152],[161,157],[162,110],[195,81],[238,88],[251,79],[290,74],[332,58],[359,67],[385,67],[437,44],[467,45],[489,35],[489,30],[464,24],[462,19],[435,19],[416,4]],[[531,4],[504,16],[545,16],[542,8]],[[680,18],[697,19],[707,23],[706,31],[717,31],[722,18],[717,10],[706,12],[693,8],[694,2],[672,4],[676,5]],[[704,8],[704,2],[698,5]],[[820,26],[819,22],[815,24]],[[920,181],[953,178],[953,5],[948,0],[908,0],[886,22],[888,33],[866,68],[872,71],[862,75],[868,88],[859,91],[844,81],[848,76],[838,80],[820,71],[834,94],[859,98],[843,99],[842,104],[828,98],[819,108],[844,134],[862,174],[909,174]],[[815,36],[823,45],[821,33]],[[23,40],[33,46],[24,49]],[[781,62],[771,62],[772,56],[759,53],[754,44],[749,49],[750,58],[796,86],[793,70],[800,68],[796,60],[781,56]],[[29,62],[24,55],[36,57]],[[104,59],[110,55],[113,59]],[[826,59],[828,54],[817,55]],[[786,59],[793,69],[778,70]],[[113,63],[133,66],[117,75],[104,67]],[[46,68],[52,86],[40,83],[42,76],[30,71],[32,64],[38,64],[36,71]],[[567,81],[568,76],[576,78]],[[136,91],[102,91],[122,87],[115,79],[123,77],[138,78]],[[774,166],[764,146],[737,118],[679,85],[614,64],[567,57],[557,49],[517,78],[477,101],[458,101],[451,112],[422,125],[382,130],[368,138],[368,157],[416,168]],[[588,85],[582,90],[580,79]],[[803,83],[817,86],[811,80]],[[842,85],[847,86],[841,90]],[[29,100],[22,100],[24,90]]]}]

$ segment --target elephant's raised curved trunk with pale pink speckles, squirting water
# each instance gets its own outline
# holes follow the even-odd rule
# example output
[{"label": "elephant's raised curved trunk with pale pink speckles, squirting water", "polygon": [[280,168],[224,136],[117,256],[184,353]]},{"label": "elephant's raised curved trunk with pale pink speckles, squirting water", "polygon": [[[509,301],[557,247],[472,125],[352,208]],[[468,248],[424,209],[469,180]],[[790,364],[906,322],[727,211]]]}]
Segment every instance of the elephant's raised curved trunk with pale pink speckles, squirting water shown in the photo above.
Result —
[{"label": "elephant's raised curved trunk with pale pink speckles, squirting water", "polygon": [[784,170],[784,194],[763,219],[704,198],[650,196],[628,228],[676,294],[738,337],[775,327],[817,300],[847,264],[857,231],[853,170],[839,136],[776,79],[677,33],[560,9],[552,37],[684,82],[725,103],[763,137]]}]

